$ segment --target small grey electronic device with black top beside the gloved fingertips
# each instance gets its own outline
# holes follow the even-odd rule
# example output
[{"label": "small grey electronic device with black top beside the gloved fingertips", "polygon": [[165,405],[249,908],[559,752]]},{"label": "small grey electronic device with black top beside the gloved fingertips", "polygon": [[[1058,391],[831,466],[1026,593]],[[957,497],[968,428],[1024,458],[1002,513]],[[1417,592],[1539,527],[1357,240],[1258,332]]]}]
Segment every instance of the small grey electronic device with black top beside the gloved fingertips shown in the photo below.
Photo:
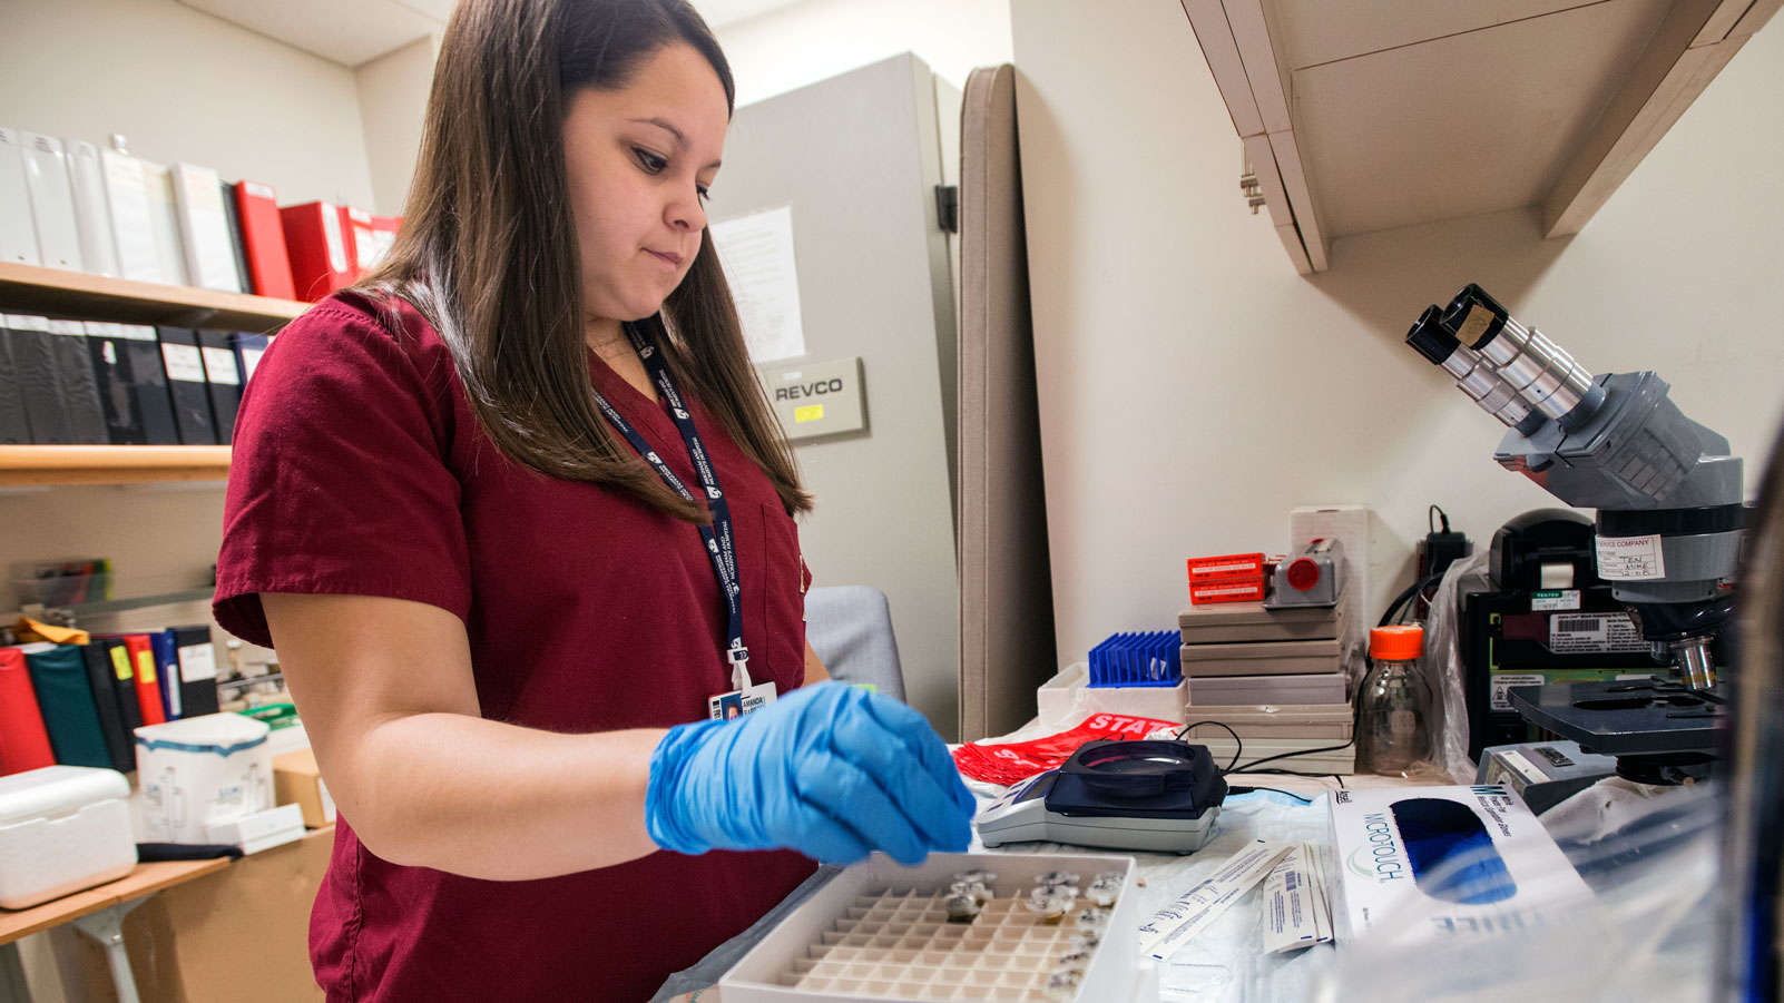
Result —
[{"label": "small grey electronic device with black top beside the gloved fingertips", "polygon": [[1058,769],[1012,787],[972,819],[987,848],[1069,842],[1193,853],[1213,837],[1227,785],[1208,746],[1085,742]]}]

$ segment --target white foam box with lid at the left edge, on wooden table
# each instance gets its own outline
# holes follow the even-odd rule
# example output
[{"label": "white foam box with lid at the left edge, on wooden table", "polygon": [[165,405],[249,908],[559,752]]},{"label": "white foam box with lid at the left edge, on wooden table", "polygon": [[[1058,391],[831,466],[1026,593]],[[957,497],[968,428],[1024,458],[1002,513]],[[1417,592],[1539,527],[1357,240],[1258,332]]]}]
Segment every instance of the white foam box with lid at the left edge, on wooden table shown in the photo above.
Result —
[{"label": "white foam box with lid at the left edge, on wooden table", "polygon": [[116,769],[45,766],[0,776],[0,907],[30,908],[128,875],[128,796]]}]

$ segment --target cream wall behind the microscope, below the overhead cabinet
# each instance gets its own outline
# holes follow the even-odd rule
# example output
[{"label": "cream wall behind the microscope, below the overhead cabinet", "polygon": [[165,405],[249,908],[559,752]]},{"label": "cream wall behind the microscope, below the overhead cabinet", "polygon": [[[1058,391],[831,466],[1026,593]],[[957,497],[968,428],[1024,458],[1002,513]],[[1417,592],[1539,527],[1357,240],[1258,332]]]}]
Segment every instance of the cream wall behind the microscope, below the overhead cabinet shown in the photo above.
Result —
[{"label": "cream wall behind the microscope, below the overhead cabinet", "polygon": [[1572,239],[1500,212],[1338,241],[1293,273],[1177,0],[1013,0],[1060,659],[1185,607],[1183,559],[1288,544],[1290,507],[1381,519],[1370,616],[1425,505],[1477,546],[1554,500],[1402,346],[1470,280],[1595,371],[1656,369],[1759,484],[1784,414],[1784,29],[1716,79]]}]

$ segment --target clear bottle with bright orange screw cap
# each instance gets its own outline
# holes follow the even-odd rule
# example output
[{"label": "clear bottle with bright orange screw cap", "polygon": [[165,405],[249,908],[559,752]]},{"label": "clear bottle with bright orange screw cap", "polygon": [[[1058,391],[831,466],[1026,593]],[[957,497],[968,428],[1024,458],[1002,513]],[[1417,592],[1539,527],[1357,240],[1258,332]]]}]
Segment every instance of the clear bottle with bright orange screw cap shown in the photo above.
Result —
[{"label": "clear bottle with bright orange screw cap", "polygon": [[1425,630],[1418,625],[1368,632],[1374,662],[1358,694],[1356,758],[1370,773],[1406,773],[1431,757],[1431,689],[1418,659]]}]

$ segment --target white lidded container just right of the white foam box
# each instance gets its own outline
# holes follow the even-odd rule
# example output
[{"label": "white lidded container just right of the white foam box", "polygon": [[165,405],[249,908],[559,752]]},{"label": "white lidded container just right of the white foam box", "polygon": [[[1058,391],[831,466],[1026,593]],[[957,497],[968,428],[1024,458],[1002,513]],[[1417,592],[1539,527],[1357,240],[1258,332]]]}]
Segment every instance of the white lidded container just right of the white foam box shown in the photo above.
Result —
[{"label": "white lidded container just right of the white foam box", "polygon": [[136,730],[136,832],[143,842],[209,844],[209,826],[273,807],[271,728],[205,714]]}]

